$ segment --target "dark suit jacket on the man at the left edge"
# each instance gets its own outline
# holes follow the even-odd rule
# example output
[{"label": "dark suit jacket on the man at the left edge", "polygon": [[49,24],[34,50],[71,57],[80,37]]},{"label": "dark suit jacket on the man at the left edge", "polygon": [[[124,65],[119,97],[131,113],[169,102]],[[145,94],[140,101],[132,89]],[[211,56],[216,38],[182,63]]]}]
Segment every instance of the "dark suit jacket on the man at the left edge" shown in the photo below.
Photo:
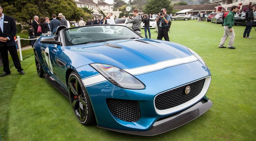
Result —
[{"label": "dark suit jacket on the man at the left edge", "polygon": [[4,15],[4,30],[2,32],[2,30],[0,29],[0,37],[8,37],[10,38],[10,40],[5,43],[0,42],[0,47],[3,47],[4,44],[6,44],[7,46],[16,45],[14,40],[14,36],[16,35],[16,33],[17,27],[14,18],[11,16]]}]

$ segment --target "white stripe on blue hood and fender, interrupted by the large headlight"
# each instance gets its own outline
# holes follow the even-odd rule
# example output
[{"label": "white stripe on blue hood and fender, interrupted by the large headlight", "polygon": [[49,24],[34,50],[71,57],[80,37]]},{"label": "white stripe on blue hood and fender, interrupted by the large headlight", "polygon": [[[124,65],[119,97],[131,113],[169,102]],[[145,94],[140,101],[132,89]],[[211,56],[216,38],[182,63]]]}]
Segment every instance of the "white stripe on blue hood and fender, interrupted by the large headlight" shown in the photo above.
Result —
[{"label": "white stripe on blue hood and fender, interrupted by the large headlight", "polygon": [[[147,65],[147,66],[124,69],[124,70],[132,75],[140,75],[140,74],[145,74],[152,71],[161,70],[167,67],[177,66],[179,64],[194,62],[196,60],[198,59],[194,55],[191,55],[184,58],[176,58],[176,59],[158,62],[158,63]],[[107,79],[103,77],[101,74],[93,75],[91,77],[82,79],[84,86],[91,86],[91,85],[99,84],[104,81],[107,81]]]}]

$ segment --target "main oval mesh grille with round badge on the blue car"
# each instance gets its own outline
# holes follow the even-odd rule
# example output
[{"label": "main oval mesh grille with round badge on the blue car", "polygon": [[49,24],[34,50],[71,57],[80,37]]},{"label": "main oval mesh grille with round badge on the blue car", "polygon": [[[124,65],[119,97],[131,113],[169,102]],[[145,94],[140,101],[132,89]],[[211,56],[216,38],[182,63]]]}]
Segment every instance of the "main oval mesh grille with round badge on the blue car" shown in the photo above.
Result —
[{"label": "main oval mesh grille with round badge on the blue car", "polygon": [[[169,90],[156,96],[154,102],[158,110],[166,110],[175,106],[181,105],[194,97],[196,97],[203,88],[205,79],[181,86],[179,88]],[[191,90],[185,94],[185,88],[190,86]]]}]

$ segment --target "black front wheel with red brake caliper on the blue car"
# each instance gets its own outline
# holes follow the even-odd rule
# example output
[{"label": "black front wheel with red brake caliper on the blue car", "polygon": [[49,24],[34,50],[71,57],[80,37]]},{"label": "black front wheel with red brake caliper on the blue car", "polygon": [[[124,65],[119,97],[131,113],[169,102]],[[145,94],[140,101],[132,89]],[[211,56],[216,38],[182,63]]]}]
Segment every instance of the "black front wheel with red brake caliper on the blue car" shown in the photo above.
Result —
[{"label": "black front wheel with red brake caliper on the blue car", "polygon": [[68,79],[68,93],[70,103],[78,121],[83,125],[95,123],[95,115],[85,86],[78,75],[73,71]]}]

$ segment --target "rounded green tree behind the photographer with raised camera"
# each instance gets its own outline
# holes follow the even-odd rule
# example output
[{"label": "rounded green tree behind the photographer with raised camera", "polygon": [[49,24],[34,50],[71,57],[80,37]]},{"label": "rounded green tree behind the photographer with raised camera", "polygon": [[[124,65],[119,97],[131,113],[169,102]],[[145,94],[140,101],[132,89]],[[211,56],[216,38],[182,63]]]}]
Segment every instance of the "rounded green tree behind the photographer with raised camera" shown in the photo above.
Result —
[{"label": "rounded green tree behind the photographer with raised camera", "polygon": [[167,13],[171,13],[173,11],[171,1],[172,0],[149,0],[143,12],[157,14],[160,12],[161,8],[166,8]]}]

